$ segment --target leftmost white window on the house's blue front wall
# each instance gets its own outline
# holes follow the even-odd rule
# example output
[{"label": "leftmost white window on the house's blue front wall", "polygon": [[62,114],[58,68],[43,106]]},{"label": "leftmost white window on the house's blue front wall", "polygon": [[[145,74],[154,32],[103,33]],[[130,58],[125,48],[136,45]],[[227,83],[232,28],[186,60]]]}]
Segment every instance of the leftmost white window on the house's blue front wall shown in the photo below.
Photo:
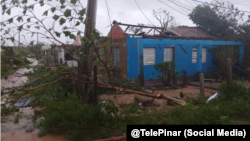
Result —
[{"label": "leftmost white window on the house's blue front wall", "polygon": [[155,48],[143,48],[143,64],[155,65]]}]

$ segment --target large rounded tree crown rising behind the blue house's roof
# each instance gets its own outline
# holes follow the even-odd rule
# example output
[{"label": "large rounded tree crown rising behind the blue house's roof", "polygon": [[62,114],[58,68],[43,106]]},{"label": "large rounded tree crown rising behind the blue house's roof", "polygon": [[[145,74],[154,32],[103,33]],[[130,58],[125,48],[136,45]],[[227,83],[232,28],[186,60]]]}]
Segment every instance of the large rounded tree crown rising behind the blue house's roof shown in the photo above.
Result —
[{"label": "large rounded tree crown rising behind the blue house's roof", "polygon": [[[235,29],[242,20],[241,13],[233,4],[212,2],[211,5],[198,5],[191,14],[190,19],[213,35],[221,38],[235,34]],[[221,8],[228,7],[228,9]]]}]

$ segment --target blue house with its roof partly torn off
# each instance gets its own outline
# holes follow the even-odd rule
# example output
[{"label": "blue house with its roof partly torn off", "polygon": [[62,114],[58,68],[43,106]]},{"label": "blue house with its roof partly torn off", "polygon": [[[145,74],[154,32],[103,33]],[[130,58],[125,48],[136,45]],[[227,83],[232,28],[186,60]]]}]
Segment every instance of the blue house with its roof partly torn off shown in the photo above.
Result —
[{"label": "blue house with its roof partly torn off", "polygon": [[[121,28],[125,26],[125,30]],[[148,32],[126,33],[130,27],[149,29]],[[149,35],[149,32],[154,32]],[[158,32],[158,34],[155,34]],[[214,66],[209,51],[218,46],[236,46],[239,62],[243,60],[244,45],[238,41],[222,41],[199,27],[175,28],[150,27],[113,22],[112,33],[114,64],[121,68],[124,78],[156,79],[154,65],[174,61],[175,70],[186,70],[188,76],[197,72],[207,73]]]}]

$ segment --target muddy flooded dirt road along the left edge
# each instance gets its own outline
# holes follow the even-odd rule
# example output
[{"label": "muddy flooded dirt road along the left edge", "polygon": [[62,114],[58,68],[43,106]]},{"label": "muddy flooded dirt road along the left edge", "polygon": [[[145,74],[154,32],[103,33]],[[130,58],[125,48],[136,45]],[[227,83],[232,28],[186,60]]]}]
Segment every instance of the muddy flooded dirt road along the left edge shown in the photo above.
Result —
[{"label": "muddy flooded dirt road along the left edge", "polygon": [[[28,58],[32,62],[30,66],[38,65],[38,61]],[[25,82],[28,78],[22,74],[29,73],[33,69],[20,68],[13,75],[8,78],[0,79],[0,89],[17,87]],[[4,95],[8,97],[8,95]],[[0,104],[5,103],[5,97],[0,96]],[[14,123],[15,116],[19,114],[19,122]],[[15,112],[5,117],[4,121],[0,123],[0,141],[68,141],[64,136],[46,135],[38,137],[39,130],[36,128],[37,122],[32,122],[34,110],[31,107],[19,108],[19,112]],[[28,130],[29,133],[28,133]]]}]

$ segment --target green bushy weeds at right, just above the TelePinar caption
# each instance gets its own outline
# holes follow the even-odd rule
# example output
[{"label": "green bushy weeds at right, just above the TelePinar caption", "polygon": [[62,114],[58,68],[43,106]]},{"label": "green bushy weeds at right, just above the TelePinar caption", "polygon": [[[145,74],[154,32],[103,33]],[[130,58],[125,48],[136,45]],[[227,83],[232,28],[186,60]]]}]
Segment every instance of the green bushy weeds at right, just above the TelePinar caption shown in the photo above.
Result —
[{"label": "green bushy weeds at right, just above the TelePinar caption", "polygon": [[238,81],[231,86],[222,83],[219,88],[220,95],[217,98],[206,103],[205,98],[199,97],[198,107],[188,103],[184,107],[171,110],[170,122],[172,124],[218,125],[249,121],[249,92],[249,88],[243,82]]}]

